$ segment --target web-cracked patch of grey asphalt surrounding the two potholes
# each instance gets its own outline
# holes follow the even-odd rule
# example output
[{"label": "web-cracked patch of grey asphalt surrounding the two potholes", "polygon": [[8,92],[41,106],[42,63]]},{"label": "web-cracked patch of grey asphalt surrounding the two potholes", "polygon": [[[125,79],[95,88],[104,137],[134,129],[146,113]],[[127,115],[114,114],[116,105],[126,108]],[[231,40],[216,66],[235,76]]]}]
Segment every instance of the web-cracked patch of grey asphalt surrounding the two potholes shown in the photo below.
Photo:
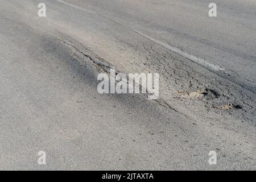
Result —
[{"label": "web-cracked patch of grey asphalt surrounding the two potholes", "polygon": [[147,67],[160,73],[160,97],[167,105],[196,121],[254,123],[256,96],[245,86],[160,46],[144,48]]}]

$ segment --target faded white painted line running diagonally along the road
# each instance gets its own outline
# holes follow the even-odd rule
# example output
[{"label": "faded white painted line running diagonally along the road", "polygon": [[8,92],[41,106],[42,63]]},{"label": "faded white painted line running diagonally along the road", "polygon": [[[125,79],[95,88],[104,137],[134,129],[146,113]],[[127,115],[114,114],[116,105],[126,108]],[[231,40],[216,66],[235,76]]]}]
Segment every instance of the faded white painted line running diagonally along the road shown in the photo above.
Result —
[{"label": "faded white painted line running diagonally along the road", "polygon": [[[97,14],[96,12],[94,11],[90,11],[90,10],[86,10],[86,9],[83,9],[81,7],[78,7],[78,6],[75,6],[75,5],[72,5],[71,3],[67,3],[67,2],[64,2],[64,1],[61,1],[61,0],[55,0],[57,2],[60,2],[60,3],[63,3],[64,5],[68,5],[68,6],[71,6],[71,7],[74,7],[76,9],[79,9],[79,10],[82,10],[82,11],[86,11],[86,12],[89,12],[89,13],[93,13],[93,14]],[[98,14],[97,14],[98,15]],[[100,15],[102,16],[102,15]],[[105,16],[102,16],[103,18],[105,19],[108,19],[114,23],[118,23],[118,22],[115,22],[114,20],[112,19],[109,19],[109,18],[106,18]],[[149,40],[151,40],[152,42],[155,42],[157,44],[159,44],[160,46],[163,46],[164,48],[167,48],[169,49],[170,51],[172,52],[175,52],[177,53],[178,55],[180,56],[183,56],[195,63],[198,63],[198,64],[201,64],[205,67],[208,67],[210,69],[213,69],[214,71],[224,71],[225,69],[224,68],[221,68],[220,66],[216,65],[216,64],[213,64],[213,63],[209,63],[207,60],[203,59],[203,58],[200,58],[200,57],[197,57],[197,56],[194,56],[194,55],[191,55],[189,54],[188,52],[185,52],[179,48],[176,48],[176,47],[173,47],[171,46],[170,44],[167,44],[167,43],[164,43],[164,42],[161,42],[160,40],[157,40],[155,38],[152,38],[151,36],[148,36],[148,35],[145,35],[145,34],[142,34],[141,32],[137,31],[137,30],[134,30],[133,28],[130,28],[130,27],[126,27],[124,26],[123,24],[120,24],[118,23],[119,25],[125,27],[125,28],[129,28],[130,30],[136,32],[137,34],[141,35],[141,36],[144,36],[144,38],[147,38]]]}]

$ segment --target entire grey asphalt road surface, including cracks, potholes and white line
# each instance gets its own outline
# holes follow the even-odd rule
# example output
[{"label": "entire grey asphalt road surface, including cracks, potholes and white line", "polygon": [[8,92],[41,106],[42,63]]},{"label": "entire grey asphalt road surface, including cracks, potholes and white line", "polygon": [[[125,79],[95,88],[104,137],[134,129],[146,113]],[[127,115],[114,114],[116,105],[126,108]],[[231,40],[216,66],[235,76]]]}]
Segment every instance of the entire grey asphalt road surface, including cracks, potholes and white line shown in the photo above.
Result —
[{"label": "entire grey asphalt road surface, including cracks, potholes and white line", "polygon": [[[210,2],[0,0],[0,169],[255,170],[256,2]],[[99,94],[110,67],[160,97]]]}]

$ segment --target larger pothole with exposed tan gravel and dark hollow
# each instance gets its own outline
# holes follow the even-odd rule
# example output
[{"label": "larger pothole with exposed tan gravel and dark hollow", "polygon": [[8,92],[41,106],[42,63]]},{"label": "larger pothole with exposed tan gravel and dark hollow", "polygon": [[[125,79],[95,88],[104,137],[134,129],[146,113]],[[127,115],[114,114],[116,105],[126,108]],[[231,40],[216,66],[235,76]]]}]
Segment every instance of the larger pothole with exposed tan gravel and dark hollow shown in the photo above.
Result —
[{"label": "larger pothole with exposed tan gravel and dark hollow", "polygon": [[193,100],[212,100],[218,98],[219,94],[212,89],[201,89],[192,92],[178,91],[181,97]]}]

